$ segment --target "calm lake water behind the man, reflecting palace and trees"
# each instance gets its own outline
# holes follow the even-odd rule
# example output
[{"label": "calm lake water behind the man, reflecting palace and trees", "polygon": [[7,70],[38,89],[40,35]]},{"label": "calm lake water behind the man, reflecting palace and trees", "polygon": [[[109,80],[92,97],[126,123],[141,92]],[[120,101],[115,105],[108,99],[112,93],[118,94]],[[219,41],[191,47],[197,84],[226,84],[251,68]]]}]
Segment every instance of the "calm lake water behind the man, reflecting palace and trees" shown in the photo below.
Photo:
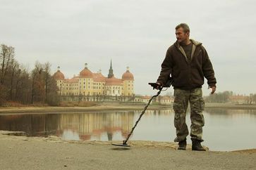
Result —
[{"label": "calm lake water behind the man, reflecting palace and trees", "polygon": [[[0,130],[64,140],[124,140],[141,111],[1,115]],[[203,139],[210,150],[256,148],[256,110],[207,109]],[[147,110],[129,140],[173,141],[173,110]],[[190,115],[187,117],[190,126]],[[189,136],[188,136],[189,139]],[[188,143],[191,143],[188,140]]]}]

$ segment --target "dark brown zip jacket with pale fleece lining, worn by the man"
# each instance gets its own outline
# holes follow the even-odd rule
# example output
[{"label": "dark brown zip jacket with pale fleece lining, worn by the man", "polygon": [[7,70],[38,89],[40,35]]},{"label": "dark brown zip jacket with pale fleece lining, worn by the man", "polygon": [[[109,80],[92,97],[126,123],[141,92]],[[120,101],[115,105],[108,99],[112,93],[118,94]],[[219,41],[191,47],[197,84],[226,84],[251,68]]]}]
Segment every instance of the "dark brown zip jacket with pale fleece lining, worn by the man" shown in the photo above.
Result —
[{"label": "dark brown zip jacket with pale fleece lining, worn by the man", "polygon": [[174,89],[195,89],[202,87],[204,77],[209,86],[216,86],[214,70],[207,51],[198,41],[192,41],[191,62],[188,61],[185,51],[176,41],[166,52],[161,64],[161,72],[157,79],[161,85],[171,76]]}]

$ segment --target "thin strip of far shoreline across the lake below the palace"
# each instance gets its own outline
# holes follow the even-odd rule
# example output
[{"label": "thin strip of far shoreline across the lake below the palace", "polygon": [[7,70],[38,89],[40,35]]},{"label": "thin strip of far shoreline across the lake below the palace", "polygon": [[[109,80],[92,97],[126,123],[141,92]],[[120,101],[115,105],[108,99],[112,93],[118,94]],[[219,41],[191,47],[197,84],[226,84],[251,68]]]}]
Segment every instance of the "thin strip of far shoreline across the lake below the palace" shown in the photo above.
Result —
[{"label": "thin strip of far shoreline across the lake below the palace", "polygon": [[[57,113],[57,112],[103,112],[107,110],[144,110],[145,105],[123,105],[123,104],[101,104],[91,107],[0,107],[0,115],[6,114],[30,114],[30,113]],[[205,103],[205,110],[208,109],[238,109],[256,110],[256,105],[235,105],[227,103]],[[147,110],[169,110],[172,105],[150,105]]]}]

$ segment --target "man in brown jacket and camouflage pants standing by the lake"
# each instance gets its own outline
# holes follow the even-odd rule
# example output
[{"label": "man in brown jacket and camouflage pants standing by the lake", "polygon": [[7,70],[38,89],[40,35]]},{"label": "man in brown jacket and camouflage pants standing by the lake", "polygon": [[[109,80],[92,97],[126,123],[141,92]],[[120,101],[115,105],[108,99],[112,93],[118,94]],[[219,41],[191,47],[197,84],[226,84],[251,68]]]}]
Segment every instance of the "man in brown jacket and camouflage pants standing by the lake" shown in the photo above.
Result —
[{"label": "man in brown jacket and camouflage pants standing by the lake", "polygon": [[205,125],[205,119],[202,115],[205,106],[202,98],[202,84],[204,84],[205,77],[213,94],[216,90],[217,81],[207,51],[200,42],[189,39],[189,37],[190,28],[187,24],[181,23],[176,26],[177,41],[166,52],[157,79],[157,89],[166,84],[171,75],[174,89],[174,126],[176,127],[174,142],[178,142],[178,150],[185,150],[187,145],[188,126],[185,123],[185,115],[189,102],[192,150],[205,151],[201,145],[203,141],[202,126]]}]

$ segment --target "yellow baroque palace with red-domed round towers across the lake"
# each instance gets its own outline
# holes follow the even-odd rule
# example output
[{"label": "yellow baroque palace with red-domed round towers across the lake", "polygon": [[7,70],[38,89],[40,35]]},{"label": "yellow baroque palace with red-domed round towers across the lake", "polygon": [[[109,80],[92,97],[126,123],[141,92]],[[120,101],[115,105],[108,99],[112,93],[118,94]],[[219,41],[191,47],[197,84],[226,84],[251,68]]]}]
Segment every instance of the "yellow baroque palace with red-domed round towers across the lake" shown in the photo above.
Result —
[{"label": "yellow baroque palace with red-domed round towers across the lake", "polygon": [[85,63],[85,68],[71,79],[65,79],[58,67],[54,79],[60,96],[134,96],[134,77],[129,67],[123,73],[122,79],[118,79],[114,77],[112,61],[107,77],[102,75],[101,70],[97,73],[91,72]]}]

